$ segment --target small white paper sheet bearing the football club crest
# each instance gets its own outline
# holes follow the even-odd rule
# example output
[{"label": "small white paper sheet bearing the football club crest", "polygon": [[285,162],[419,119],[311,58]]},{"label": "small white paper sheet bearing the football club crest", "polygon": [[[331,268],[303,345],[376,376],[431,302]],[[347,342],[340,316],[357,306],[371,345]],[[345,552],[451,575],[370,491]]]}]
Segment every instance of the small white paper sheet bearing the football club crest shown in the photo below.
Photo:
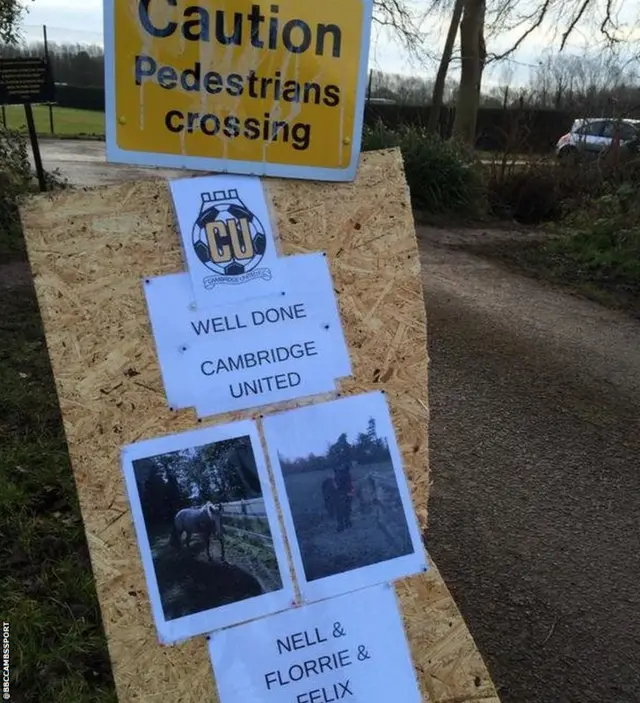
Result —
[{"label": "small white paper sheet bearing the football club crest", "polygon": [[169,185],[199,308],[280,292],[282,259],[259,178],[203,176]]}]

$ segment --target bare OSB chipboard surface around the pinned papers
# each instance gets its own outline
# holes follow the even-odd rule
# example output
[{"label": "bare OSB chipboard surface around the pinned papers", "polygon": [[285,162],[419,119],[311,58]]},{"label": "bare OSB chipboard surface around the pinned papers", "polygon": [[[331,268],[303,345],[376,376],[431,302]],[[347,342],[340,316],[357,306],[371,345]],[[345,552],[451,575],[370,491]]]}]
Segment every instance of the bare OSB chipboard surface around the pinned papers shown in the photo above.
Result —
[{"label": "bare OSB chipboard surface around the pinned papers", "polygon": [[[353,363],[341,392],[387,391],[425,529],[426,316],[400,153],[363,155],[354,183],[265,183],[283,254],[328,254]],[[37,196],[21,215],[119,698],[217,701],[204,638],[157,642],[120,467],[122,445],[196,426],[165,402],[142,289],[184,270],[167,183]],[[435,567],[398,592],[425,701],[497,701]]]}]

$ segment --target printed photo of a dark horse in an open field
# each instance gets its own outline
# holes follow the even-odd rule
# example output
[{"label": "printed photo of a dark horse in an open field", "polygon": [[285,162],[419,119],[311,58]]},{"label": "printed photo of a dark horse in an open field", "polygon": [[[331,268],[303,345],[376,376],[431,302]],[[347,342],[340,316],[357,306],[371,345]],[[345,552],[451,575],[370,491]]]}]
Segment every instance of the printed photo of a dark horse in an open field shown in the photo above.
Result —
[{"label": "printed photo of a dark horse in an open field", "polygon": [[265,419],[265,434],[308,582],[415,552],[384,396],[287,411]]}]

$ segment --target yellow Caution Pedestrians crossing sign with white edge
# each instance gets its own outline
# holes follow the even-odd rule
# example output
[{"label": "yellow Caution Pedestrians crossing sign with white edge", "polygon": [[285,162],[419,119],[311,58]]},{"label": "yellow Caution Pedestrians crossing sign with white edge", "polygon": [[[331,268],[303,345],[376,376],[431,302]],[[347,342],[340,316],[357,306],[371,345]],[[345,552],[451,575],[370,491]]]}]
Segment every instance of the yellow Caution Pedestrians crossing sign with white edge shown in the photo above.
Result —
[{"label": "yellow Caution Pedestrians crossing sign with white edge", "polygon": [[107,159],[352,180],[372,0],[107,0]]}]

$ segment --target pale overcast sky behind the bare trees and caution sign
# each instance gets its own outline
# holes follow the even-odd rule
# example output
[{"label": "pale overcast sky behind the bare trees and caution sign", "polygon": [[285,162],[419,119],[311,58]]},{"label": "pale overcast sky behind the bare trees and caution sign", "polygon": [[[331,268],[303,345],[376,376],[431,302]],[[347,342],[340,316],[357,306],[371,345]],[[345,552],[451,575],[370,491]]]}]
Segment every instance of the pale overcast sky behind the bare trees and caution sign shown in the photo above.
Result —
[{"label": "pale overcast sky behind the bare trees and caution sign", "polygon": [[[424,6],[425,0],[409,0]],[[607,0],[593,0],[595,10],[590,11],[589,19],[597,23],[598,6],[602,7]],[[618,0],[623,3],[618,21],[624,26],[627,37],[640,41],[640,3],[637,0]],[[571,0],[567,0],[567,6]],[[47,25],[49,40],[52,42],[91,42],[102,43],[102,0],[35,0],[29,3],[29,13],[24,21],[25,38],[41,39],[42,25]],[[522,11],[531,12],[531,4],[522,3]],[[503,84],[507,74],[511,74],[514,84],[528,82],[537,61],[543,55],[545,48],[555,39],[558,45],[557,32],[561,29],[562,20],[566,17],[551,17],[539,30],[532,33],[528,41],[515,54],[515,61],[508,66],[491,67],[485,72],[485,89],[491,85]],[[438,26],[434,21],[428,23],[429,47],[437,55],[443,42],[446,28]],[[518,37],[521,30],[502,34],[497,39],[489,39],[488,50],[499,53],[508,48]],[[572,38],[567,51],[581,53],[585,46],[593,49],[596,46],[597,32],[590,30],[587,25],[579,25],[578,31]],[[431,77],[434,74],[434,64],[416,65],[412,63],[395,37],[388,32],[381,32],[374,27],[369,63],[372,68],[389,73],[407,75],[423,75]]]}]

